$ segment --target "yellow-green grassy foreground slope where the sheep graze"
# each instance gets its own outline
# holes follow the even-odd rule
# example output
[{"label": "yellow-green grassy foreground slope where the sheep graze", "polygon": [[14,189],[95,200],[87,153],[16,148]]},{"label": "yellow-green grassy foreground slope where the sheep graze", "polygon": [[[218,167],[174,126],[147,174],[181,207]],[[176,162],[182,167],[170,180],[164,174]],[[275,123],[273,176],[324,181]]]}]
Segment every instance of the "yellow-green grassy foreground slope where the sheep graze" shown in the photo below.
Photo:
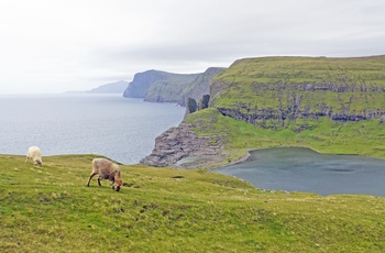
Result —
[{"label": "yellow-green grassy foreground slope where the sheep graze", "polygon": [[265,191],[208,170],[0,155],[0,252],[383,252],[385,198]]}]

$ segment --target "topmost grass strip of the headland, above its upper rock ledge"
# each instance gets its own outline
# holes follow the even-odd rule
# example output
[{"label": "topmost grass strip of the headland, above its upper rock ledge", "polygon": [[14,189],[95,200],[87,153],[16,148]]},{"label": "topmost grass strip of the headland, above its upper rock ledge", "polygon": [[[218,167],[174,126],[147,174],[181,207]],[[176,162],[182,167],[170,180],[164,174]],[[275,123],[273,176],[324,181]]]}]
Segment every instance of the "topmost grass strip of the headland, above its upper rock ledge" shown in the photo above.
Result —
[{"label": "topmost grass strip of the headland, above its upper rock ledge", "polygon": [[267,82],[292,80],[345,82],[353,80],[385,84],[385,56],[329,57],[258,57],[237,61],[216,80],[228,82]]}]

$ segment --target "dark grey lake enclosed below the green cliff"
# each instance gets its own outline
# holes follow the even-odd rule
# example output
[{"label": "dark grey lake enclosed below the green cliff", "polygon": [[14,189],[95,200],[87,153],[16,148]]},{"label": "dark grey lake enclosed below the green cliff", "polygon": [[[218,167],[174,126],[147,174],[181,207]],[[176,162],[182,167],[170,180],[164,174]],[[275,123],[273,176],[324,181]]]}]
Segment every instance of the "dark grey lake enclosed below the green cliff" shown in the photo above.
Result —
[{"label": "dark grey lake enclosed below the green cliff", "polygon": [[385,160],[372,157],[277,147],[253,151],[250,161],[216,172],[237,176],[257,188],[385,196]]}]

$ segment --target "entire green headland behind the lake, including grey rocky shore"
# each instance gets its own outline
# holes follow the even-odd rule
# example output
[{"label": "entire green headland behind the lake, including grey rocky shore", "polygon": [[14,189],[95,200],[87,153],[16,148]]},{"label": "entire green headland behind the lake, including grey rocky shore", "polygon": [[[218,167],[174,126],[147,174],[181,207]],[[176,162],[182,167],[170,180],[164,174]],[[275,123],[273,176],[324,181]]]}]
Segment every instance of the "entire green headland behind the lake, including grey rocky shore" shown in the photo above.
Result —
[{"label": "entire green headland behind the lake, including grey rocky shore", "polygon": [[385,56],[241,59],[211,80],[210,97],[210,108],[156,140],[162,163],[152,165],[223,165],[240,150],[285,145],[385,156]]}]

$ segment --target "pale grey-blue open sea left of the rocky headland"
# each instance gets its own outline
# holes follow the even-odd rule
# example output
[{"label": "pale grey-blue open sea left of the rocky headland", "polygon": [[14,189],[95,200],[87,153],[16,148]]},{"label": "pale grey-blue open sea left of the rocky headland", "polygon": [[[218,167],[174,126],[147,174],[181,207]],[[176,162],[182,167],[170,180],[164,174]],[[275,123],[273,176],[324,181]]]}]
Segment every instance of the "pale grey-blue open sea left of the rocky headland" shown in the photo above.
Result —
[{"label": "pale grey-blue open sea left of the rocky headland", "polygon": [[[100,154],[123,164],[148,155],[185,108],[121,95],[0,96],[0,154]],[[43,158],[44,160],[44,158]]]}]

